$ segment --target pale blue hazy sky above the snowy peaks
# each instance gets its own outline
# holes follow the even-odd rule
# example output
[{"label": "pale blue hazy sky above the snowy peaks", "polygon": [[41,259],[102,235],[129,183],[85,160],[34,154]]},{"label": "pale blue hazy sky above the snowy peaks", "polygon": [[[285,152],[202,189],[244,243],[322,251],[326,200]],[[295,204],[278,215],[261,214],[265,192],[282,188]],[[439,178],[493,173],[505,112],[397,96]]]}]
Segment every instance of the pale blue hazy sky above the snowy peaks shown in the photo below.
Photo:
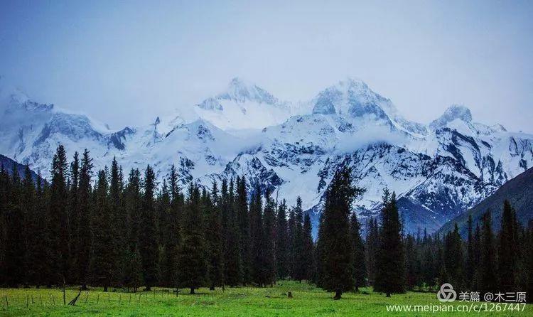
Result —
[{"label": "pale blue hazy sky above the snowy peaks", "polygon": [[0,0],[0,75],[114,129],[236,76],[291,101],[357,77],[416,122],[533,133],[532,56],[533,1]]}]

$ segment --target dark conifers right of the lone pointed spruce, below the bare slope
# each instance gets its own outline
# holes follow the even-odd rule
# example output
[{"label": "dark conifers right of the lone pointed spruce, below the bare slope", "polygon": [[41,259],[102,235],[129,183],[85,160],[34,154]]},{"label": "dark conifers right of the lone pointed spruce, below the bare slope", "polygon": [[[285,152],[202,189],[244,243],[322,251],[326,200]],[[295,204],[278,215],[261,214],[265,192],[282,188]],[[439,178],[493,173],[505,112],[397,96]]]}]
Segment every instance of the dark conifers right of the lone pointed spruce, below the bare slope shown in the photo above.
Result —
[{"label": "dark conifers right of the lone pointed spruce, below the bare slope", "polygon": [[497,234],[488,210],[479,224],[468,218],[465,240],[456,224],[443,237],[424,232],[404,241],[409,289],[431,290],[448,282],[454,289],[480,294],[525,291],[533,300],[533,226],[522,227],[507,200]]}]

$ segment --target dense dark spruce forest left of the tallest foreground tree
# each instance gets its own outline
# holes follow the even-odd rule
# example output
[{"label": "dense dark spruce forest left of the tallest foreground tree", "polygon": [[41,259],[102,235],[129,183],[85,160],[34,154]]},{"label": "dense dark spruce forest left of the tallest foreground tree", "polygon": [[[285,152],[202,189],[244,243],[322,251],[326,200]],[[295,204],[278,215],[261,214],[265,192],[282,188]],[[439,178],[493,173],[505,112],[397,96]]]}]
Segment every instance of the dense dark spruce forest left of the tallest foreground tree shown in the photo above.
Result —
[{"label": "dense dark spruce forest left of the tallest foreground tree", "polygon": [[[68,163],[63,146],[51,179],[0,171],[0,284],[189,288],[272,285],[311,279],[311,220],[244,177],[183,193],[176,168],[156,184],[150,166],[124,176],[114,159],[93,171],[89,151]],[[93,175],[94,174],[94,175]],[[126,179],[127,178],[127,179]],[[287,215],[289,217],[287,218]]]}]

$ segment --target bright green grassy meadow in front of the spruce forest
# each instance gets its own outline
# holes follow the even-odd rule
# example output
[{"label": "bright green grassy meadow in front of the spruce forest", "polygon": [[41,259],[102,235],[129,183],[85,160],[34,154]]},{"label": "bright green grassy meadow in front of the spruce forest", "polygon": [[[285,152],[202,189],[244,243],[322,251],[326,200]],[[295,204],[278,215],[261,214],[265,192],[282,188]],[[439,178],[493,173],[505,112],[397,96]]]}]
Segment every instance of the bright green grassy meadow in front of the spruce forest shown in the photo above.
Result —
[{"label": "bright green grassy meadow in front of the spruce forest", "polygon": [[[293,299],[284,295],[288,291]],[[333,301],[333,294],[293,281],[281,281],[274,288],[265,289],[200,289],[197,295],[182,292],[176,296],[169,289],[136,294],[91,289],[82,292],[75,306],[64,306],[59,289],[0,289],[0,316],[533,316],[532,305],[525,306],[524,311],[499,313],[387,313],[389,304],[439,303],[435,294],[409,292],[387,299],[370,289],[343,294],[342,300]],[[75,289],[67,290],[67,302],[77,293]]]}]

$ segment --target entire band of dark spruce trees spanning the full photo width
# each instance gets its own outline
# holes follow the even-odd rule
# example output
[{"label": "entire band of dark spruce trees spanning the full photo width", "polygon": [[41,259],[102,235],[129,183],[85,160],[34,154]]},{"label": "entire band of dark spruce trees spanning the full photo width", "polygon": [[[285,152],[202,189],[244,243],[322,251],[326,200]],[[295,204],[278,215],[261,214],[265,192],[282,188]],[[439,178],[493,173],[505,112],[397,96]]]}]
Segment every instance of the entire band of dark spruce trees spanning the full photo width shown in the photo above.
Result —
[{"label": "entire band of dark spruce trees spanning the full photo width", "polygon": [[352,203],[364,189],[343,167],[325,192],[313,242],[300,198],[289,207],[258,185],[248,195],[244,177],[181,188],[174,166],[158,184],[151,166],[125,176],[113,159],[93,171],[87,150],[68,163],[63,146],[50,174],[34,182],[28,167],[23,176],[0,168],[0,285],[194,293],[294,279],[335,291],[335,299],[360,286],[390,296],[445,282],[458,291],[533,294],[533,226],[519,225],[508,202],[497,235],[490,212],[478,225],[469,220],[466,240],[457,226],[444,237],[404,235],[387,190],[379,218],[360,223]]}]

